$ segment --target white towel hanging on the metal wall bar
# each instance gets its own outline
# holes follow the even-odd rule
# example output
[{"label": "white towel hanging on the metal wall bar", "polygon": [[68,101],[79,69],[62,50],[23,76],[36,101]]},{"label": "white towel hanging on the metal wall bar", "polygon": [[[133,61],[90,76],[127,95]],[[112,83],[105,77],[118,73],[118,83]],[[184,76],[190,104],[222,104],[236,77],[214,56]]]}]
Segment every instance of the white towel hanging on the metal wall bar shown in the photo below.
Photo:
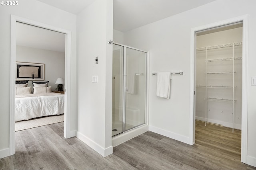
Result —
[{"label": "white towel hanging on the metal wall bar", "polygon": [[170,98],[170,72],[158,72],[156,84],[156,96],[159,98]]}]

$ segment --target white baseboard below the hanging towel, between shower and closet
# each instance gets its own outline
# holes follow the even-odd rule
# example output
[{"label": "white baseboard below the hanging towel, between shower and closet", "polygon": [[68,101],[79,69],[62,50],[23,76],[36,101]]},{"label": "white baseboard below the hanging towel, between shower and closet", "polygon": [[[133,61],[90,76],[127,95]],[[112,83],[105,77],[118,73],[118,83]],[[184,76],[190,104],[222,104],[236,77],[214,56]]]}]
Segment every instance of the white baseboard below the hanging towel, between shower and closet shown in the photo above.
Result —
[{"label": "white baseboard below the hanging towel, between shower and closet", "polygon": [[183,143],[191,145],[189,143],[189,137],[186,137],[186,136],[183,136],[183,135],[179,135],[177,133],[173,133],[173,132],[170,132],[170,131],[166,131],[164,129],[160,129],[160,128],[154,127],[154,126],[149,126],[148,130],[152,131],[154,133],[158,133],[160,135],[164,135],[166,137],[169,137],[169,138],[175,139],[177,141],[180,141],[180,142],[183,142]]}]

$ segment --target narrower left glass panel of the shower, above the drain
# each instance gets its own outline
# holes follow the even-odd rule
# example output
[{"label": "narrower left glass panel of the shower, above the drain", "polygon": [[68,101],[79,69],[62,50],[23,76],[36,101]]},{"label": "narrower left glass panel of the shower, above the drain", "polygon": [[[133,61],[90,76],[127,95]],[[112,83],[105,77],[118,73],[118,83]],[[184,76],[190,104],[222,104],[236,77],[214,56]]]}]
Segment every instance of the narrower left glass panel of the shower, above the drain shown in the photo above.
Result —
[{"label": "narrower left glass panel of the shower, above the drain", "polygon": [[112,136],[123,132],[124,47],[113,44]]}]

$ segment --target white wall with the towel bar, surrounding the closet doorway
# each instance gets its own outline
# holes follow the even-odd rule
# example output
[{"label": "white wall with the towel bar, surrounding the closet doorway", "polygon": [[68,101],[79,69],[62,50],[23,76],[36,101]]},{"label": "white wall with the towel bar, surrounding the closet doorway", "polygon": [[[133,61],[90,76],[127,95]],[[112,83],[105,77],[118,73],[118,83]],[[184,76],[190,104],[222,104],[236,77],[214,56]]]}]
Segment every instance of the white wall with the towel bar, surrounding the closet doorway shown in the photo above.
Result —
[{"label": "white wall with the towel bar, surrounding the closet doorway", "polygon": [[150,51],[150,73],[183,71],[173,75],[170,100],[156,97],[156,76],[150,75],[150,130],[188,142],[190,106],[190,29],[249,14],[248,30],[248,156],[256,166],[256,1],[217,0],[124,34],[124,44]]}]

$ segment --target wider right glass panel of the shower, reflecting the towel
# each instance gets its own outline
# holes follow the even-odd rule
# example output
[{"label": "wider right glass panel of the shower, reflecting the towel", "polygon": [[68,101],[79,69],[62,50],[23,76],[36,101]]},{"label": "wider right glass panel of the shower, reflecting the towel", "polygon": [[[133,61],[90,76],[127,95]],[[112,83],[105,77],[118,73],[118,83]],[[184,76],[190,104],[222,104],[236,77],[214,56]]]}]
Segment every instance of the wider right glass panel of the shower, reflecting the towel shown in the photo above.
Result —
[{"label": "wider right glass panel of the shower, reflecting the towel", "polygon": [[126,48],[125,130],[145,123],[146,53]]}]

